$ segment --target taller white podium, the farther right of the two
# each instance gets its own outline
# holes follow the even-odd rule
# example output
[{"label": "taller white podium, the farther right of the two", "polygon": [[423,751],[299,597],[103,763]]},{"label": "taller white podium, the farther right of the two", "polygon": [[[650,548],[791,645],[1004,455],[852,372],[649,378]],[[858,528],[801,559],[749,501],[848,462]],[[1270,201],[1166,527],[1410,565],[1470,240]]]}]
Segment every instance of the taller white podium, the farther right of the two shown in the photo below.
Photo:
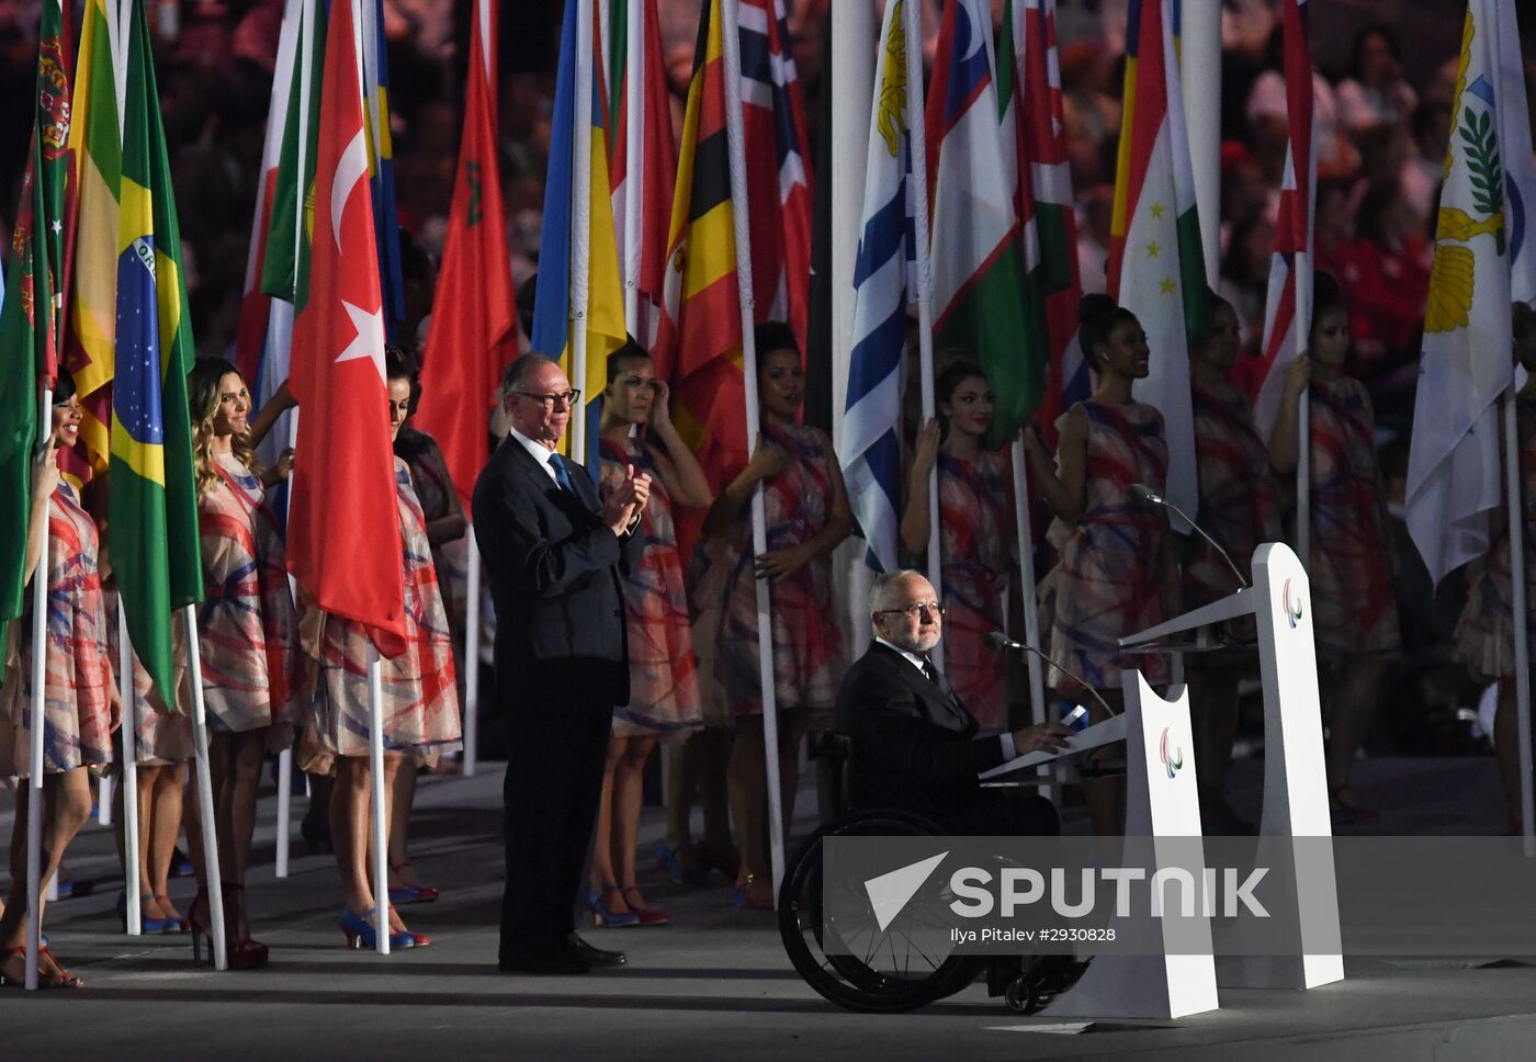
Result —
[{"label": "taller white podium, the farther right of the two", "polygon": [[[1212,624],[1249,615],[1258,622],[1264,687],[1264,811],[1258,856],[1263,862],[1264,853],[1273,851],[1272,865],[1293,870],[1278,884],[1284,888],[1284,904],[1293,905],[1299,939],[1290,954],[1223,954],[1217,964],[1218,981],[1230,988],[1315,988],[1344,979],[1344,957],[1338,953],[1338,890],[1330,850],[1313,842],[1303,861],[1292,848],[1293,838],[1329,839],[1333,835],[1306,569],[1289,546],[1266,543],[1253,553],[1252,589],[1121,638],[1120,644],[1127,649],[1166,645],[1170,639],[1195,635],[1187,645],[1192,652],[1213,649],[1215,642],[1207,638]],[[1126,689],[1129,692],[1130,684]],[[1130,792],[1137,792],[1135,781]],[[1158,822],[1152,825],[1160,827]],[[1127,816],[1127,833],[1134,828]],[[1157,828],[1154,836],[1158,835],[1166,836],[1166,831]],[[1307,873],[1295,873],[1303,862]]]}]

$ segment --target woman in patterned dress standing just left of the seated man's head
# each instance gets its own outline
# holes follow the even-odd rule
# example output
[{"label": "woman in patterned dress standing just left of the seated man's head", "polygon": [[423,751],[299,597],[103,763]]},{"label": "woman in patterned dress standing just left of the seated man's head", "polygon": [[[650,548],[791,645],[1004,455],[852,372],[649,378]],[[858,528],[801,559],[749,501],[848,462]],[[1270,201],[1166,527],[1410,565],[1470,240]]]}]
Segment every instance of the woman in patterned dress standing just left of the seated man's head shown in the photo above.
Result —
[{"label": "woman in patterned dress standing just left of the seated man's head", "polygon": [[[757,579],[770,586],[779,792],[788,830],[800,781],[800,741],[831,713],[845,667],[831,553],[848,538],[854,519],[831,440],[796,423],[805,400],[805,367],[794,334],[776,321],[757,326],[757,393],[762,438],[703,523],[707,569],[694,589],[699,616],[693,641],[705,712],[736,727],[727,778],[742,853],[736,879],[740,904],[771,910]],[[757,484],[763,487],[768,550],[753,556]]]}]

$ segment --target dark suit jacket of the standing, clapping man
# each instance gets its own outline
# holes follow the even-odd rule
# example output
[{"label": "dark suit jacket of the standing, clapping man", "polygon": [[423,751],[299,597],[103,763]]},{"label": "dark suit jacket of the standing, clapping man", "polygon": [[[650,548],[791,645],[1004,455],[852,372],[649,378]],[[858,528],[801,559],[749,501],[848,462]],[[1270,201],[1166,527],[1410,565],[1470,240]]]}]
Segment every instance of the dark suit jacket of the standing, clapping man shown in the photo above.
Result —
[{"label": "dark suit jacket of the standing, clapping man", "polygon": [[551,698],[630,701],[624,576],[641,564],[645,536],[614,536],[591,476],[567,466],[578,496],[508,436],[475,483],[475,541],[496,604],[498,702],[508,715]]}]

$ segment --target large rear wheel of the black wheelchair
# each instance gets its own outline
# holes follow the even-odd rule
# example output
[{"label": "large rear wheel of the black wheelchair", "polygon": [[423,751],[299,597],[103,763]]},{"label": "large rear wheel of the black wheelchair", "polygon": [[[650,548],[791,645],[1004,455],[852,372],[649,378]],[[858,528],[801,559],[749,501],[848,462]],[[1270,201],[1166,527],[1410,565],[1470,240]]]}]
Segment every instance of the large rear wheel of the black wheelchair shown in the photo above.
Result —
[{"label": "large rear wheel of the black wheelchair", "polygon": [[[800,848],[779,891],[779,936],[796,971],[825,999],[854,1011],[899,1013],[952,996],[975,977],[980,961],[952,954],[948,928],[915,925],[903,913],[880,931],[863,882],[834,881],[823,873],[822,842],[829,836],[940,835],[940,827],[906,811],[857,811],[822,827]],[[925,891],[932,888],[948,888],[948,882],[925,885]],[[839,904],[839,910],[854,908],[859,916],[826,916],[823,896],[839,891],[857,898]],[[823,948],[828,933],[843,945],[833,954]]]}]

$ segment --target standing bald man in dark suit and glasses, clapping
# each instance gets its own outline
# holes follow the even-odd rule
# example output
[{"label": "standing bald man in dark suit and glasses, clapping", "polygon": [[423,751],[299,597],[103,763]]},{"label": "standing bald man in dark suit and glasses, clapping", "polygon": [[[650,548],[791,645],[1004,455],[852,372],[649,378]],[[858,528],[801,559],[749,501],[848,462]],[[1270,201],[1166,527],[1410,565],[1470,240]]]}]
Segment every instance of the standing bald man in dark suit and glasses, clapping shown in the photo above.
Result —
[{"label": "standing bald man in dark suit and glasses, clapping", "polygon": [[622,951],[576,936],[574,905],[602,795],[613,709],[630,699],[622,575],[650,476],[608,498],[556,447],[581,393],[559,364],[528,353],[507,367],[511,432],[475,484],[475,541],[496,604],[498,704],[510,722],[504,787],[507,887],[501,968],[585,973]]}]

